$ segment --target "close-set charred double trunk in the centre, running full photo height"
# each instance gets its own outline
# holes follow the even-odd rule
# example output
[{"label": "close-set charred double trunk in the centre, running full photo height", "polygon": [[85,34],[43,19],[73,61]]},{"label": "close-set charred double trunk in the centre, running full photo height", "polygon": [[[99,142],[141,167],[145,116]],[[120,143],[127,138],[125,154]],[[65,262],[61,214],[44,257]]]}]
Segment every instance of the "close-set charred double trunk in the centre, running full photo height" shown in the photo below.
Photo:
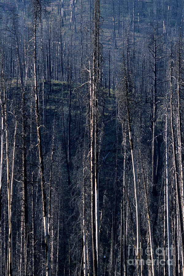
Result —
[{"label": "close-set charred double trunk in the centre, running full photo height", "polygon": [[[93,77],[90,83],[90,134],[91,134],[91,226],[94,276],[100,276],[100,235],[98,197],[98,87],[99,87],[99,17],[100,2],[94,0]],[[90,76],[91,79],[91,76]],[[90,81],[91,82],[91,81]],[[92,87],[91,87],[92,84]]]}]

